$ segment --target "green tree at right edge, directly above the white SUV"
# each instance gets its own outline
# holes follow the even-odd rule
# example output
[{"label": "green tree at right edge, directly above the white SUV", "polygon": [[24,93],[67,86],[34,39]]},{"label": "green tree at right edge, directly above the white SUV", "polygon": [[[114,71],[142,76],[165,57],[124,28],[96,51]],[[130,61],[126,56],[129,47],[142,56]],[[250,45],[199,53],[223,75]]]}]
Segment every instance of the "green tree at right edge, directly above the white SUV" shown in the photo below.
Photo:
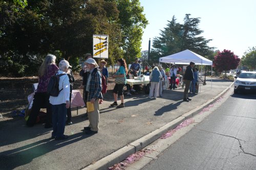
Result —
[{"label": "green tree at right edge, directly above the white SUV", "polygon": [[250,47],[243,55],[241,63],[251,70],[256,69],[256,46]]}]

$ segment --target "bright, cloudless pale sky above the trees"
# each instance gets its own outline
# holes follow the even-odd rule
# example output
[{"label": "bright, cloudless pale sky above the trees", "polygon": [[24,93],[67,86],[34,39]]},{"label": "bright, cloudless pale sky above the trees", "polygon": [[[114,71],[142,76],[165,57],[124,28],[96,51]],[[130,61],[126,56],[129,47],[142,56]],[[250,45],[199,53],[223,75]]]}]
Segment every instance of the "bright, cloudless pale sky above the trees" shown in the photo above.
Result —
[{"label": "bright, cloudless pale sky above the trees", "polygon": [[[231,50],[242,57],[248,47],[256,46],[255,0],[140,0],[149,22],[142,37],[142,51],[148,50],[148,40],[158,37],[160,30],[175,15],[184,23],[185,14],[200,17],[199,29],[209,46],[216,50]],[[152,41],[151,41],[152,44]],[[152,47],[152,46],[151,46]]]}]

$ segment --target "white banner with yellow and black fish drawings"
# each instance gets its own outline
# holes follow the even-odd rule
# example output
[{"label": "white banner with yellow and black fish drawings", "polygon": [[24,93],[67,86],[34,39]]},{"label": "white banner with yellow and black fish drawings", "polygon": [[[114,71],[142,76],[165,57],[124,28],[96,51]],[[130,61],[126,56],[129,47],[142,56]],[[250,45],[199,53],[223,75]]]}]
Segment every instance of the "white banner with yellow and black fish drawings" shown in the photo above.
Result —
[{"label": "white banner with yellow and black fish drawings", "polygon": [[109,58],[108,35],[93,35],[93,58]]}]

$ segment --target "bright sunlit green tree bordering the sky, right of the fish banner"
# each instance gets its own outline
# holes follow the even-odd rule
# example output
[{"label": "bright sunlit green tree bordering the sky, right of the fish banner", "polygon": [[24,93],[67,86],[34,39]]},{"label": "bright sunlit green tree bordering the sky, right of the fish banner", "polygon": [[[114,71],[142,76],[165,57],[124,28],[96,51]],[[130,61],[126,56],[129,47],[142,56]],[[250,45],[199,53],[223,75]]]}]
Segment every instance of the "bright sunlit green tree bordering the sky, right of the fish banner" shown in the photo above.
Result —
[{"label": "bright sunlit green tree bordering the sky, right of the fish banner", "polygon": [[122,32],[122,49],[127,63],[141,55],[143,29],[148,24],[139,0],[116,0]]}]

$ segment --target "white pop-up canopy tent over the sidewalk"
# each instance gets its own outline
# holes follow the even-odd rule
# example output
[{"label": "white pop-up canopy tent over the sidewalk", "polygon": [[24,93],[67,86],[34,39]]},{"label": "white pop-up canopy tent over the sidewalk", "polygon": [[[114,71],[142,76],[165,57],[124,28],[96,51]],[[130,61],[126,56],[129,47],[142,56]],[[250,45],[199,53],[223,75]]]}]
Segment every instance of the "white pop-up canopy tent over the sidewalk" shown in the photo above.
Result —
[{"label": "white pop-up canopy tent over the sidewalk", "polygon": [[[212,61],[200,56],[190,50],[185,50],[173,55],[169,55],[166,57],[160,57],[159,62],[163,63],[172,63],[172,64],[183,64],[189,65],[190,62],[194,62],[196,65],[210,65],[212,72]],[[201,67],[202,68],[202,67]],[[202,72],[202,70],[201,70]],[[205,83],[205,82],[204,82]],[[212,82],[211,82],[212,84]]]}]

